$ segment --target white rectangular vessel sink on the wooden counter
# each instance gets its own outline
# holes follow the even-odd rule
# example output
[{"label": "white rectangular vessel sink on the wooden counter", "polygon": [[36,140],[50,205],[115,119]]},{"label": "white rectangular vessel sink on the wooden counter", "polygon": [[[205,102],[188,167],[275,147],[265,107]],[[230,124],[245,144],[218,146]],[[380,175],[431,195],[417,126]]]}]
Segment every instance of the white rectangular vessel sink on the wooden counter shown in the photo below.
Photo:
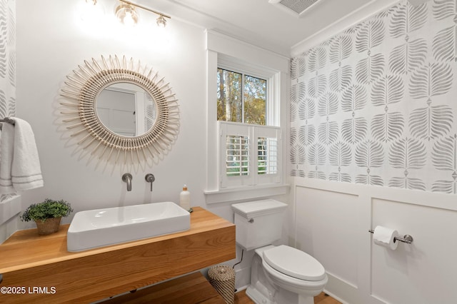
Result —
[{"label": "white rectangular vessel sink on the wooden counter", "polygon": [[190,213],[173,202],[80,211],[66,234],[66,248],[81,251],[189,228]]}]

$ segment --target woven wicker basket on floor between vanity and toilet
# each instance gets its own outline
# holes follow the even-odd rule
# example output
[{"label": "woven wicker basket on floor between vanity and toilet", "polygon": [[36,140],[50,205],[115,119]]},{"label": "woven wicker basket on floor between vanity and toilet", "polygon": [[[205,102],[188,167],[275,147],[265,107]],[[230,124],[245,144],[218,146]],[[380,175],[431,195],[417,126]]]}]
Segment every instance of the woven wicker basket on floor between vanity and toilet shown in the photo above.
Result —
[{"label": "woven wicker basket on floor between vanity and toilet", "polygon": [[228,304],[235,303],[235,270],[229,266],[218,265],[208,270],[209,283],[222,295]]}]

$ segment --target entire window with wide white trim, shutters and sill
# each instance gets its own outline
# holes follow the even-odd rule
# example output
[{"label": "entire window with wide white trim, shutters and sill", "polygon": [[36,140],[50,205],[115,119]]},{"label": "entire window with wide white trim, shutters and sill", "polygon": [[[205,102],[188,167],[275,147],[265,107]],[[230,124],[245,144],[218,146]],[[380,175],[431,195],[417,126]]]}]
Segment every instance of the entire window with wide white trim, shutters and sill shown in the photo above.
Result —
[{"label": "entire window with wide white trim, shutters and sill", "polygon": [[206,203],[286,194],[288,56],[208,30],[206,59]]}]

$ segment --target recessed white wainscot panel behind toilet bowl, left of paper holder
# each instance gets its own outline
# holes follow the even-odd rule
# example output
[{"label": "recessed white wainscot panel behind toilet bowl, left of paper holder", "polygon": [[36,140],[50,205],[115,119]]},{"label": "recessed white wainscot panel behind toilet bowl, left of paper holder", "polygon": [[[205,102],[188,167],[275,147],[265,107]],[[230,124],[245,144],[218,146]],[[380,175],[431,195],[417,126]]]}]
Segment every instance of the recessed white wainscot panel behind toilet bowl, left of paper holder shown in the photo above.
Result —
[{"label": "recessed white wainscot panel behind toilet bowl, left of paper holder", "polygon": [[296,246],[313,255],[329,275],[358,284],[358,196],[296,187]]}]

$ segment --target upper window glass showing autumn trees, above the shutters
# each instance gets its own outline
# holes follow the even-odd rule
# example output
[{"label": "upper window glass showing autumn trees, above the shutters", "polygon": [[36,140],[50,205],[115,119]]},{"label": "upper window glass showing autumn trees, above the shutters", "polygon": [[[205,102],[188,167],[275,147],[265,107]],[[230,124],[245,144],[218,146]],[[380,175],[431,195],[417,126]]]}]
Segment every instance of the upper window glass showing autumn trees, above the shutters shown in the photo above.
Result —
[{"label": "upper window glass showing autumn trees, above the shutters", "polygon": [[217,69],[217,120],[266,125],[266,79]]}]

